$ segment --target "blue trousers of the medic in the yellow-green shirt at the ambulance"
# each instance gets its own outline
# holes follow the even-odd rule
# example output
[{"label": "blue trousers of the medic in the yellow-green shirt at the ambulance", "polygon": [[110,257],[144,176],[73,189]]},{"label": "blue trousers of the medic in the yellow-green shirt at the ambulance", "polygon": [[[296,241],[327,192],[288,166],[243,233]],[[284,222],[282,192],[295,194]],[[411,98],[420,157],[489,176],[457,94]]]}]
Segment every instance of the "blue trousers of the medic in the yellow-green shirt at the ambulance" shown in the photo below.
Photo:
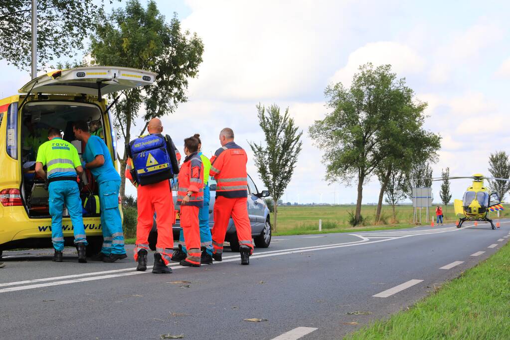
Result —
[{"label": "blue trousers of the medic in the yellow-green shirt at the ambulance", "polygon": [[[52,215],[52,242],[55,250],[64,249],[64,234],[62,233],[62,211],[64,202],[71,217],[74,232],[74,243],[85,243],[85,229],[83,228],[82,200],[80,190],[75,181],[56,181],[49,183],[49,214]],[[66,230],[69,230],[66,227]]]}]

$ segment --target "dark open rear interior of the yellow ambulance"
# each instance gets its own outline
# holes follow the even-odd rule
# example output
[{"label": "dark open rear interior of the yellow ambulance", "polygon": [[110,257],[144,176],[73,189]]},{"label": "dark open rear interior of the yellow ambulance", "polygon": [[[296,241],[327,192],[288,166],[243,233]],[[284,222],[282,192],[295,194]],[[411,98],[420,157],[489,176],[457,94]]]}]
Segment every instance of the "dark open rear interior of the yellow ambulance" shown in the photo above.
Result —
[{"label": "dark open rear interior of the yellow ambulance", "polygon": [[[89,124],[92,135],[104,137],[104,121],[98,106],[78,102],[29,102],[23,106],[21,119],[21,171],[22,184],[21,194],[23,202],[29,213],[29,217],[48,217],[48,191],[45,183],[35,173],[35,161],[39,146],[48,140],[47,130],[55,127],[61,130],[62,139],[69,141],[78,150],[82,159],[84,144],[75,138],[72,131],[74,121],[83,120]],[[44,168],[46,170],[46,168]],[[94,195],[98,195],[98,188],[89,170],[80,177],[80,196],[82,207],[86,201],[90,201],[83,209],[84,217],[99,216],[97,209],[92,205]],[[64,206],[65,207],[65,206]],[[68,216],[64,208],[64,216]]]}]

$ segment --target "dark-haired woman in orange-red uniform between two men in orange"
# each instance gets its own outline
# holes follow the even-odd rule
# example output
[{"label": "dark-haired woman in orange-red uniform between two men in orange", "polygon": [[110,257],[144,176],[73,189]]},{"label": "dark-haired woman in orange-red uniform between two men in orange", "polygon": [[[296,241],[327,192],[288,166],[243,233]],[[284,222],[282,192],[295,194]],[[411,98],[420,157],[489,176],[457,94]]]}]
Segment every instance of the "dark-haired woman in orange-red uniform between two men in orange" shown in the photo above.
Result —
[{"label": "dark-haired woman in orange-red uniform between two men in orange", "polygon": [[179,171],[177,205],[181,206],[181,226],[187,249],[181,266],[200,267],[200,228],[198,212],[203,206],[203,164],[198,155],[198,139],[184,139],[184,159]]}]

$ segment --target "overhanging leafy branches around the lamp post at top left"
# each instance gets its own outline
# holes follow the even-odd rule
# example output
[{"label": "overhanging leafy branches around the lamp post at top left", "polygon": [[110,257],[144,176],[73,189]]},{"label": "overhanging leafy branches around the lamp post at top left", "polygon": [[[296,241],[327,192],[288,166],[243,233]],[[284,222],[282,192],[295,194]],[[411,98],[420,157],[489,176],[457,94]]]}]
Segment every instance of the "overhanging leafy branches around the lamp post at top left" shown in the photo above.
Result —
[{"label": "overhanging leafy branches around the lamp post at top left", "polygon": [[[110,1],[112,3],[112,1]],[[37,62],[39,69],[58,58],[72,58],[103,13],[103,1],[38,0]],[[0,59],[30,71],[32,57],[32,1],[2,0]]]}]

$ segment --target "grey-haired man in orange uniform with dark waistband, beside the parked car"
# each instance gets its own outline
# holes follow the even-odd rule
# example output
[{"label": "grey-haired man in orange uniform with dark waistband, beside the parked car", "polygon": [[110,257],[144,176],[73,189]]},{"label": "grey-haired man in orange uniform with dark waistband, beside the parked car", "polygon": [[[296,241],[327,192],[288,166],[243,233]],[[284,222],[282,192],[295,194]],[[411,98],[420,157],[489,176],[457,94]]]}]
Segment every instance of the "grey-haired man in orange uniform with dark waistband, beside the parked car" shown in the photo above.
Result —
[{"label": "grey-haired man in orange uniform with dark waistband, beside the parked car", "polygon": [[224,128],[220,132],[219,148],[211,158],[211,176],[216,180],[214,203],[213,259],[221,261],[223,241],[230,217],[234,219],[239,238],[241,264],[248,265],[253,253],[251,224],[248,217],[248,157],[243,148],[234,143],[234,131]]}]

